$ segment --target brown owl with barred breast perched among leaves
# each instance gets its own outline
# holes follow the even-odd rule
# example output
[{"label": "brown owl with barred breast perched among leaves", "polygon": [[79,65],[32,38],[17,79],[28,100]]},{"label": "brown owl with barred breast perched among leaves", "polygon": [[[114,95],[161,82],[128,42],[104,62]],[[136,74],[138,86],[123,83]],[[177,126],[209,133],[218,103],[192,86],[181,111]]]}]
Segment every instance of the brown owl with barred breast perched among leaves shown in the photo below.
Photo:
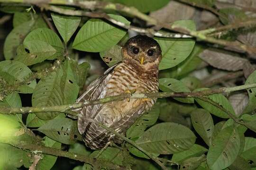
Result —
[{"label": "brown owl with barred breast perched among leaves", "polygon": [[[121,93],[158,92],[158,66],[161,48],[145,35],[132,37],[122,47],[123,59],[96,79],[77,102],[101,99]],[[156,99],[130,99],[83,107],[78,118],[78,130],[91,149],[101,149],[109,141],[121,140],[86,118],[94,119],[125,134],[136,119],[149,110]]]}]

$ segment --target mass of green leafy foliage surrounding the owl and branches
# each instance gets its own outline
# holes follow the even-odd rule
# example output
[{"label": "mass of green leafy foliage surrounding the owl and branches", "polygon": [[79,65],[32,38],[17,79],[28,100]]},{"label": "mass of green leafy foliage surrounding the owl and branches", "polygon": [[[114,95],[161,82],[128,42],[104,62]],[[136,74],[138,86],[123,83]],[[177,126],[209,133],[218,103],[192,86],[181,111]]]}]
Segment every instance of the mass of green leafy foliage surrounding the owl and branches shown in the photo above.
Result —
[{"label": "mass of green leafy foliage surrounding the owl and branches", "polygon": [[[128,9],[137,8],[135,11],[138,14],[150,13],[147,17],[155,17],[157,12],[163,14],[166,11],[164,8],[170,8],[169,0],[103,1],[131,7]],[[217,10],[218,17],[213,17],[217,20],[214,26],[229,26],[235,21],[248,19],[244,10],[220,9],[216,1],[185,0],[185,4]],[[141,26],[139,29],[152,31],[162,27],[147,25],[128,9],[117,12],[120,5],[119,8],[108,6],[105,17],[97,17],[98,13],[103,14],[101,10],[92,14],[82,10],[82,14],[90,13],[91,17],[62,14],[61,9],[75,12],[82,8],[75,5],[73,8],[61,6],[57,13],[49,6],[43,11],[36,5],[23,5],[0,4],[2,12],[13,14],[13,29],[9,30],[4,40],[4,59],[0,58],[0,107],[20,108],[21,112],[22,106],[42,108],[75,103],[84,87],[103,74],[103,68],[122,60],[121,46],[130,35],[127,28]],[[187,9],[180,10],[184,12]],[[197,12],[201,14],[202,11]],[[250,12],[255,14],[253,10]],[[111,19],[121,23],[121,26],[111,22]],[[223,46],[202,43],[200,40],[209,41],[205,38],[208,35],[216,38],[210,29],[197,31],[205,27],[204,21],[200,18],[173,19],[174,22],[165,24],[181,27],[197,38],[197,34],[205,34],[200,35],[201,39],[164,37],[159,34],[171,34],[170,30],[160,29],[157,32],[159,36],[153,37],[162,49],[159,65],[161,92],[197,94],[217,87],[256,83],[253,65],[256,52],[230,48],[227,52],[220,50]],[[165,19],[159,22],[164,23]],[[256,32],[252,30],[255,27],[220,30],[217,38],[239,40],[244,45],[255,45],[252,47],[255,48]],[[177,166],[186,170],[254,170],[256,87],[247,88],[248,95],[245,93],[218,92],[203,98],[195,95],[158,99],[154,107],[138,118],[125,134],[144,152],[127,141],[110,145],[104,151],[89,149],[77,130],[76,117],[68,115],[71,110],[0,114],[0,169],[25,170],[36,162],[38,170],[55,170],[59,166],[57,159],[60,159],[73,170],[111,169],[106,162],[119,168],[160,170],[159,163],[157,165],[155,160],[152,161],[153,157],[170,170]],[[33,147],[28,147],[32,144]],[[42,147],[52,149],[55,154],[46,150],[42,152]],[[65,155],[62,151],[66,151]],[[73,160],[57,157],[71,158],[70,154],[75,155]],[[84,161],[83,166],[75,161],[79,160],[76,159],[79,155],[89,160]],[[90,160],[100,160],[101,164]]]}]

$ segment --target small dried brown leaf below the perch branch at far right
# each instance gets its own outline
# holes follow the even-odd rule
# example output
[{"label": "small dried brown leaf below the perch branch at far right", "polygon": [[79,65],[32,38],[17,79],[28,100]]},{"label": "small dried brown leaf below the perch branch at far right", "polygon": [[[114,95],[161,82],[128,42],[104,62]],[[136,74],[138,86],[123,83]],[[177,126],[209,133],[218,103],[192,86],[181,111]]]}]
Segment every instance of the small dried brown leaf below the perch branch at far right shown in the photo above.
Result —
[{"label": "small dried brown leaf below the perch branch at far right", "polygon": [[239,116],[249,101],[247,93],[236,93],[229,96],[229,102],[231,103],[233,109],[237,116]]}]

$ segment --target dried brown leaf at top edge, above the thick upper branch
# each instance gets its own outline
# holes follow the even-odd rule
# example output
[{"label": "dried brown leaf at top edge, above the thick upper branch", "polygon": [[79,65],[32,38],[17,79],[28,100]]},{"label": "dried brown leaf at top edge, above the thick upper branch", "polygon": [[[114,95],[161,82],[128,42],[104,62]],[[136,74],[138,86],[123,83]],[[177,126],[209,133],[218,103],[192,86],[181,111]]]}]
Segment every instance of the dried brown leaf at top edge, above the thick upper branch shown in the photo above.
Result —
[{"label": "dried brown leaf at top edge, above the thick upper branch", "polygon": [[191,19],[195,13],[195,8],[177,1],[170,1],[164,8],[150,13],[159,22],[171,23],[181,19]]}]

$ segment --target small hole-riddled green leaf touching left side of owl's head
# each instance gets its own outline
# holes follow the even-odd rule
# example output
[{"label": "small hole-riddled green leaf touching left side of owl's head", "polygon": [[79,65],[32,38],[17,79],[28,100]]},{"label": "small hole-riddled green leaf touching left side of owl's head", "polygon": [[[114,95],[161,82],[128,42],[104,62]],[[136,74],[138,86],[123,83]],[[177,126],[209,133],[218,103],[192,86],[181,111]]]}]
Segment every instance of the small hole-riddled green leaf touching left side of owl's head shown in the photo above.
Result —
[{"label": "small hole-riddled green leaf touching left side of owl's head", "polygon": [[109,50],[100,52],[101,59],[109,66],[113,66],[122,60],[121,47],[114,45]]}]

